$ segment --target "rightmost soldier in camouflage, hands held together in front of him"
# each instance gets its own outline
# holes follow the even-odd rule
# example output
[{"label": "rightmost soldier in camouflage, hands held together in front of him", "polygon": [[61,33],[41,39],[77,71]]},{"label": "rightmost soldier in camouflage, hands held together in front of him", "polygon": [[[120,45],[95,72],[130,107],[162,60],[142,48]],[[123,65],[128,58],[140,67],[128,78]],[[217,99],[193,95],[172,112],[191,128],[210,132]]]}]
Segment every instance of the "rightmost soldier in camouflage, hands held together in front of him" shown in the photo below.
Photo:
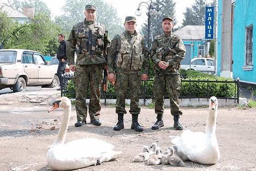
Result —
[{"label": "rightmost soldier in camouflage, hands held together in front of him", "polygon": [[172,16],[165,16],[162,19],[164,33],[155,37],[150,49],[150,58],[154,63],[155,79],[153,82],[153,92],[155,97],[155,113],[157,121],[152,126],[153,130],[164,126],[163,117],[163,97],[166,86],[169,90],[171,114],[177,130],[183,127],[179,123],[179,116],[182,112],[179,109],[178,97],[181,92],[180,62],[185,57],[185,46],[182,39],[172,32],[174,23]]}]

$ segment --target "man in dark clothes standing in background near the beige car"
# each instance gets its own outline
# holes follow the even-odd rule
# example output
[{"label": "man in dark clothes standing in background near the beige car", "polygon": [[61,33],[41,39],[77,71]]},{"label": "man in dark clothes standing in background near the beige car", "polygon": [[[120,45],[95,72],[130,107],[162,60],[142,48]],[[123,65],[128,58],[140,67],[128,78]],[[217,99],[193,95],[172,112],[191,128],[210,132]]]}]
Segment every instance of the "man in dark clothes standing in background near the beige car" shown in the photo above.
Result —
[{"label": "man in dark clothes standing in background near the beige car", "polygon": [[[60,33],[58,35],[58,39],[60,41],[60,45],[57,52],[57,59],[59,60],[59,65],[57,69],[57,76],[60,80],[60,84],[62,83],[62,74],[65,73],[65,68],[67,65],[67,42],[65,40],[65,35],[63,33]],[[61,86],[57,88],[57,90],[61,90]]]}]

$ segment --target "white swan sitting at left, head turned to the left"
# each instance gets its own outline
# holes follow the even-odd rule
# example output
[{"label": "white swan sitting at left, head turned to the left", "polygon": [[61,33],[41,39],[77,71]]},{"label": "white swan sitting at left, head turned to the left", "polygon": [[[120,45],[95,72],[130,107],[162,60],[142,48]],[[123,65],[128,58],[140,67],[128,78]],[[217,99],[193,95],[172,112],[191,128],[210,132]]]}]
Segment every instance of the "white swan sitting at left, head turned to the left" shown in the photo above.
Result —
[{"label": "white swan sitting at left, head turned to the left", "polygon": [[95,138],[78,139],[64,144],[71,115],[71,102],[67,97],[60,97],[53,104],[48,112],[61,107],[63,119],[57,138],[46,157],[52,169],[57,171],[79,169],[109,161],[122,154],[113,151],[112,144]]}]

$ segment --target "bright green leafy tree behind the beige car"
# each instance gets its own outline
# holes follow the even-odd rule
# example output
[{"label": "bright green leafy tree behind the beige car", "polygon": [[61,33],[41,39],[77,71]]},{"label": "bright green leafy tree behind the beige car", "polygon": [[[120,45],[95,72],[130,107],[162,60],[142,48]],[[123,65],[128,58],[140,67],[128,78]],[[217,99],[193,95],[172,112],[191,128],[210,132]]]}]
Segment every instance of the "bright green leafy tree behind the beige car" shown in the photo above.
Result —
[{"label": "bright green leafy tree behind the beige car", "polygon": [[17,49],[37,50],[44,55],[53,55],[58,48],[57,36],[61,28],[46,14],[37,14],[33,20],[22,24],[13,34],[17,38]]}]

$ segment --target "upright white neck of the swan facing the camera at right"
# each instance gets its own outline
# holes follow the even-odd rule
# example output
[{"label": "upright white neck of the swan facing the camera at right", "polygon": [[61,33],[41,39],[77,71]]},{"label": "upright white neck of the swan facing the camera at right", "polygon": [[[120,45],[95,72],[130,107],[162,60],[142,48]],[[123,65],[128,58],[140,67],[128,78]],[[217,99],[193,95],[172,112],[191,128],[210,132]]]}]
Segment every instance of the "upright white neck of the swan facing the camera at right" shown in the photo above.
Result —
[{"label": "upright white neck of the swan facing the camera at right", "polygon": [[216,121],[217,121],[217,108],[215,110],[209,109],[209,114],[206,122],[206,135],[209,137],[215,136]]}]

